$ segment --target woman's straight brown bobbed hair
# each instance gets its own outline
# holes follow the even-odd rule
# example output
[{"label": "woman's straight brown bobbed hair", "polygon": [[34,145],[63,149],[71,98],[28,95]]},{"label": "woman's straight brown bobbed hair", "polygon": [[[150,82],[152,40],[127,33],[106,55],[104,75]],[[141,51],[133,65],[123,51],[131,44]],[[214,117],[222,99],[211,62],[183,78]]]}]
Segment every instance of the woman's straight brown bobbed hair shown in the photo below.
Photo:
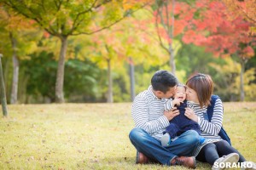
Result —
[{"label": "woman's straight brown bobbed hair", "polygon": [[201,73],[195,74],[194,76],[189,77],[186,85],[188,88],[195,90],[201,108],[203,105],[210,105],[213,93],[213,82],[209,75]]}]

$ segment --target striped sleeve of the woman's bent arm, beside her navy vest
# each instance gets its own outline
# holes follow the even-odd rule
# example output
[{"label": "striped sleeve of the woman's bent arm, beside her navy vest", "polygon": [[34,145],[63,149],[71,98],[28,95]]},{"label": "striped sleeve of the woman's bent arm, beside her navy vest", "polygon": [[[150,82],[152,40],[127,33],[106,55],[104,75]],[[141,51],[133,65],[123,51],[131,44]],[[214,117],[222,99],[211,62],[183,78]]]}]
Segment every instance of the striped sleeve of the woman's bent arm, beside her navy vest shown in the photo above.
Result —
[{"label": "striped sleeve of the woman's bent arm, beside her navy vest", "polygon": [[220,99],[217,99],[213,108],[212,120],[209,122],[203,118],[199,118],[201,131],[204,133],[217,136],[223,122],[223,105]]}]

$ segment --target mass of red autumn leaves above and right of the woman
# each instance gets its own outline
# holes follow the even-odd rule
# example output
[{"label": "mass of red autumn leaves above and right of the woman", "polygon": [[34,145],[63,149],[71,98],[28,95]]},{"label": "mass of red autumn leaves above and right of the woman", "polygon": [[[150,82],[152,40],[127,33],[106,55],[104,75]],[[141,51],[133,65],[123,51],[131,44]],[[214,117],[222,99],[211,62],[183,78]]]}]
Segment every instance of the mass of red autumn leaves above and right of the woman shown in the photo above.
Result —
[{"label": "mass of red autumn leaves above and right of the woman", "polygon": [[239,16],[230,20],[231,13],[224,3],[209,1],[205,5],[201,7],[207,10],[201,12],[199,20],[191,21],[194,29],[184,33],[183,42],[204,46],[217,56],[224,53],[253,56],[250,47],[253,38],[247,34],[250,23]]}]

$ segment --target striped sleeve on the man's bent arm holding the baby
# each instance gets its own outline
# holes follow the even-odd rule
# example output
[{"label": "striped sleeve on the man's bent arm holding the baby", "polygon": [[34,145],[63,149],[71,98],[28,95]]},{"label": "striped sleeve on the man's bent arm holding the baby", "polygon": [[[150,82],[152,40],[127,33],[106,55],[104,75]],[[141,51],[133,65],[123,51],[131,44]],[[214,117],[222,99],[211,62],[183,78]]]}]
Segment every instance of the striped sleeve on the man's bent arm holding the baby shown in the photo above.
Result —
[{"label": "striped sleeve on the man's bent arm holding the baby", "polygon": [[148,133],[158,132],[160,129],[165,128],[170,124],[164,115],[149,121],[148,105],[145,99],[141,96],[134,99],[131,107],[131,116],[135,122],[135,126],[143,128]]}]

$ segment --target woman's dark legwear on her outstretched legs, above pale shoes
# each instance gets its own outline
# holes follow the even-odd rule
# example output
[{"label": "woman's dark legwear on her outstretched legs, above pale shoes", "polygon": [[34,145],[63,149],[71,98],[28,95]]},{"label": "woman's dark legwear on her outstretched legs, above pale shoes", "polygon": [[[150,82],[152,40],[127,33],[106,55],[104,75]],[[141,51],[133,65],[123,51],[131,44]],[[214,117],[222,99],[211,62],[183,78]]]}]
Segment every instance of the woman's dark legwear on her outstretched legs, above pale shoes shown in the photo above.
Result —
[{"label": "woman's dark legwear on her outstretched legs, above pale shoes", "polygon": [[219,157],[227,156],[231,153],[237,153],[239,155],[239,162],[246,161],[245,158],[225,140],[205,145],[198,156],[196,156],[196,160],[207,161],[209,164],[213,165],[214,161]]}]

